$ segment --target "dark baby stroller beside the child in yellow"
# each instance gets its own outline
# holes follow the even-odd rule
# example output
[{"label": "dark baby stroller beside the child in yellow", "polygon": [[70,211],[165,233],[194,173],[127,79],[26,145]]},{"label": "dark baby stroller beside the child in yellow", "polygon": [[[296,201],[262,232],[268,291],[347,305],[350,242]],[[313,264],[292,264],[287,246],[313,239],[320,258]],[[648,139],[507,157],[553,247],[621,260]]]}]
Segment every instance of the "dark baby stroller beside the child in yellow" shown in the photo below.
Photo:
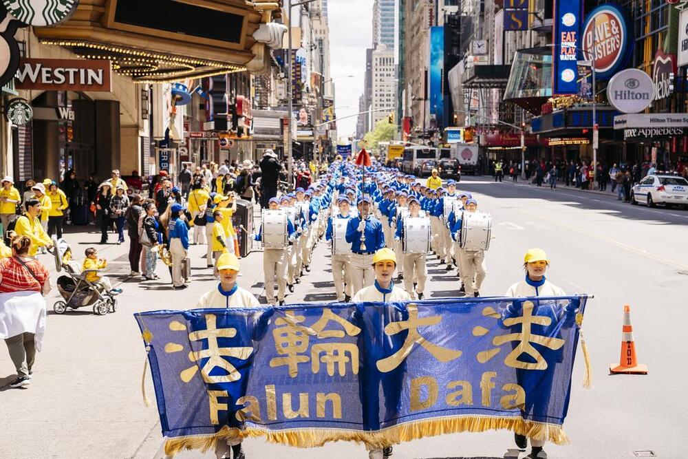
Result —
[{"label": "dark baby stroller beside the child in yellow", "polygon": [[52,310],[56,314],[64,314],[67,308],[78,309],[93,306],[93,312],[99,316],[108,312],[115,312],[117,300],[103,292],[102,289],[86,279],[89,273],[98,270],[87,269],[82,272],[80,266],[72,261],[72,249],[65,239],[53,239],[55,250],[55,268],[57,272],[64,270],[67,275],[57,279],[57,290],[64,301],[56,301]]}]

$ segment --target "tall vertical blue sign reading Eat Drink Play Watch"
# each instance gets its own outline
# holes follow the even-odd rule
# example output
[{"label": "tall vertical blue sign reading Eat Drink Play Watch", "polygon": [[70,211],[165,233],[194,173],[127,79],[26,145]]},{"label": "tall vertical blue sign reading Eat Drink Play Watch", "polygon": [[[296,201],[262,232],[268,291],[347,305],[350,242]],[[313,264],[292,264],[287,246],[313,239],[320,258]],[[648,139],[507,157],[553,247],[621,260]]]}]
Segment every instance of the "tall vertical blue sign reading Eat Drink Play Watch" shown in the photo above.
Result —
[{"label": "tall vertical blue sign reading Eat Drink Play Watch", "polygon": [[578,94],[578,48],[583,2],[555,0],[552,30],[555,41],[552,95]]}]

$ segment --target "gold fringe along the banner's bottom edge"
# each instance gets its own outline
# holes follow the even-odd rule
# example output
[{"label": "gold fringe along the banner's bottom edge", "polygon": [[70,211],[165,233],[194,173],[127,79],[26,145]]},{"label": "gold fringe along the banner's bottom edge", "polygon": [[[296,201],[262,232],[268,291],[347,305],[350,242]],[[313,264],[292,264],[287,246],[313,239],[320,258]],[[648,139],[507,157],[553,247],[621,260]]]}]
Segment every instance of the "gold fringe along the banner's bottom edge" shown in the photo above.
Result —
[{"label": "gold fringe along the banner's bottom edge", "polygon": [[248,427],[246,430],[241,431],[225,426],[217,434],[169,438],[165,442],[165,454],[167,456],[175,456],[175,454],[185,449],[207,451],[215,447],[217,440],[227,440],[239,436],[242,438],[264,436],[269,442],[302,448],[321,447],[325,443],[333,441],[362,442],[370,447],[383,448],[424,437],[496,429],[512,430],[528,438],[547,440],[557,445],[564,445],[569,441],[561,425],[537,423],[520,417],[447,416],[417,420],[374,432],[347,429],[289,429],[272,431],[262,427]]}]

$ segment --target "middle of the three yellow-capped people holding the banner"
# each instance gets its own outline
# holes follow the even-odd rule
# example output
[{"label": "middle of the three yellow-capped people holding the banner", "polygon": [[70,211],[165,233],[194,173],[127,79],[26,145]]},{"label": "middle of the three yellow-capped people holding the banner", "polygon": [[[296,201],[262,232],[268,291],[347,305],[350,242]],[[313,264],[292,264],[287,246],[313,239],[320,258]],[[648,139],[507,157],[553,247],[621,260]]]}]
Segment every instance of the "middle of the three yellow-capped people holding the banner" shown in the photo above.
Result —
[{"label": "middle of the three yellow-capped people holding the banner", "polygon": [[[396,255],[394,255],[392,250],[389,248],[381,248],[380,250],[377,250],[374,257],[372,257],[372,267],[374,268],[375,272],[375,282],[372,286],[367,286],[366,288],[363,288],[363,290],[356,292],[356,295],[354,295],[355,303],[361,303],[362,301],[409,301],[411,299],[411,296],[408,294],[408,292],[395,286],[394,282],[392,281],[394,270],[396,268]],[[383,381],[380,382],[383,383],[385,403],[387,403],[387,390],[385,383]],[[369,396],[370,398],[374,399],[374,401],[379,400],[377,391],[374,394],[369,394]],[[390,396],[389,398],[391,400],[394,397]],[[372,417],[378,417],[377,409],[374,410]],[[365,448],[368,450],[369,459],[388,458],[392,454],[391,446],[379,449],[366,445]]]}]

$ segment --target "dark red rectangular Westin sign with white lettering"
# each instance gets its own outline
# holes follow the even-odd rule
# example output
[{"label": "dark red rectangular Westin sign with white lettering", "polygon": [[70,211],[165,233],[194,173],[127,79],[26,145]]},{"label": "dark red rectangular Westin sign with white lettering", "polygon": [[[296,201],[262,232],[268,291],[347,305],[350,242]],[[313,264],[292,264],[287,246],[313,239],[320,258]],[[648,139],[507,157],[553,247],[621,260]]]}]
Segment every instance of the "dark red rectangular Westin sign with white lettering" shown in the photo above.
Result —
[{"label": "dark red rectangular Westin sign with white lettering", "polygon": [[110,61],[30,59],[19,61],[17,89],[111,92]]}]

